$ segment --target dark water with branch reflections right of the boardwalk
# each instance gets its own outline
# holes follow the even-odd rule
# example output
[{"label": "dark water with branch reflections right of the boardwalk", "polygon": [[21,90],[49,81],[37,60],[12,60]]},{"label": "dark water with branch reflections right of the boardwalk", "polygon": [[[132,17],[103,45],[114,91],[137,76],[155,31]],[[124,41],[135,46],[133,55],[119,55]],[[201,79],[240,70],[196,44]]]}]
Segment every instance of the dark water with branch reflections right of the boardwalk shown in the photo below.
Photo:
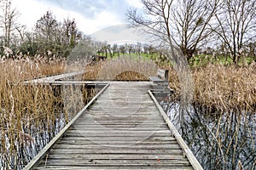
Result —
[{"label": "dark water with branch reflections right of the boardwalk", "polygon": [[255,113],[210,113],[194,105],[180,117],[177,101],[158,100],[204,169],[256,169]]}]

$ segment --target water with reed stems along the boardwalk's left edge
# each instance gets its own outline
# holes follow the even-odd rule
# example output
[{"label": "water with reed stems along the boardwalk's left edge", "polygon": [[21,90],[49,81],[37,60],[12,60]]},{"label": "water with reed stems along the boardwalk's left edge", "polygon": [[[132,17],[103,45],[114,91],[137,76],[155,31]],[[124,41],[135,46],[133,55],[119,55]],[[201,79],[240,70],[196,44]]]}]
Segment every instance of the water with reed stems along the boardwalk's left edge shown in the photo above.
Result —
[{"label": "water with reed stems along the boardwalk's left edge", "polygon": [[[48,105],[52,110],[49,111],[51,114],[42,112],[38,117],[34,117],[33,113],[24,108],[25,113],[19,121],[3,120],[4,127],[0,127],[0,170],[25,167],[102,87],[99,85],[47,85],[47,92],[50,91],[55,96],[51,98],[52,105]],[[67,93],[66,96],[63,96],[63,93]],[[0,109],[0,116],[3,116],[4,108]],[[20,124],[22,131],[12,129],[11,126],[17,124]]]}]

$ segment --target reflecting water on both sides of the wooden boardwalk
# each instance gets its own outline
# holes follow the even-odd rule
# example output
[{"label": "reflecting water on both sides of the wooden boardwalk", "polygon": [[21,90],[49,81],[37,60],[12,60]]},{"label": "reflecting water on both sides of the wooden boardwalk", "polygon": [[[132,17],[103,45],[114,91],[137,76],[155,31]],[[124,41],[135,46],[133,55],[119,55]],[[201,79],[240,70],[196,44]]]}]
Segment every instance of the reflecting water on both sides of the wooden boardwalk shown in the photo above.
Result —
[{"label": "reflecting water on both sides of the wooden boardwalk", "polygon": [[[82,92],[83,105],[95,95],[90,91],[92,88],[79,88]],[[99,89],[96,91],[99,91],[102,87],[97,88]],[[61,88],[56,89],[55,95],[61,95]],[[68,96],[66,102],[69,103],[71,99],[72,96]],[[180,116],[178,102],[166,98],[165,100],[159,98],[159,101],[204,169],[256,169],[255,113],[230,111],[230,113],[218,114],[190,106],[184,116]],[[75,112],[79,109],[81,108],[71,107],[68,111]],[[12,152],[3,151],[10,151],[9,138],[3,137],[0,133],[0,139],[6,141],[5,145],[0,145],[1,170],[25,167],[50,139],[65,127],[67,119],[71,120],[73,117],[72,114],[66,117],[63,114],[63,105],[57,103],[55,113],[57,116],[53,122],[44,121],[40,126],[32,125],[29,126],[30,128],[25,126],[23,132],[25,142],[16,141]],[[30,134],[32,139],[26,134]]]}]

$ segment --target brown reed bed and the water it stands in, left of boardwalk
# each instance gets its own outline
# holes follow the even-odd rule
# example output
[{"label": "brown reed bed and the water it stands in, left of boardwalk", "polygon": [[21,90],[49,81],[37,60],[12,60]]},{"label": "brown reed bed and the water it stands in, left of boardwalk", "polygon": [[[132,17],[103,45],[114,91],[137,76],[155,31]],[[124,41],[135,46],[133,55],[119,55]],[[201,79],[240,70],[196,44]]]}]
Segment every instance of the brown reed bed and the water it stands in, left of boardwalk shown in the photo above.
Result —
[{"label": "brown reed bed and the water it stands in, left of boardwalk", "polygon": [[83,87],[22,83],[64,70],[61,61],[0,63],[0,169],[23,168],[95,94],[94,89]]}]

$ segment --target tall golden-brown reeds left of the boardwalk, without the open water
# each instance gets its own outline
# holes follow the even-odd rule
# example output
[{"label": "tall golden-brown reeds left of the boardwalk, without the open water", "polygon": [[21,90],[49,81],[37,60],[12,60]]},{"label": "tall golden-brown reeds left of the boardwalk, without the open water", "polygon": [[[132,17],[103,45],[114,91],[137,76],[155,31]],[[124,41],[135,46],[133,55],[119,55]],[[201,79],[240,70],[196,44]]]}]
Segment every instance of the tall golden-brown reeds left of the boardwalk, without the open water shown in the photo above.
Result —
[{"label": "tall golden-brown reeds left of the boardwalk, without the open water", "polygon": [[49,132],[50,138],[57,128],[56,120],[61,120],[65,113],[56,110],[61,99],[55,95],[55,89],[25,86],[22,81],[58,74],[63,68],[58,62],[30,59],[0,63],[0,165],[3,169],[18,168],[22,162],[15,161],[20,161],[19,156],[25,156],[26,149],[38,142],[35,137],[46,137],[45,133]]}]

